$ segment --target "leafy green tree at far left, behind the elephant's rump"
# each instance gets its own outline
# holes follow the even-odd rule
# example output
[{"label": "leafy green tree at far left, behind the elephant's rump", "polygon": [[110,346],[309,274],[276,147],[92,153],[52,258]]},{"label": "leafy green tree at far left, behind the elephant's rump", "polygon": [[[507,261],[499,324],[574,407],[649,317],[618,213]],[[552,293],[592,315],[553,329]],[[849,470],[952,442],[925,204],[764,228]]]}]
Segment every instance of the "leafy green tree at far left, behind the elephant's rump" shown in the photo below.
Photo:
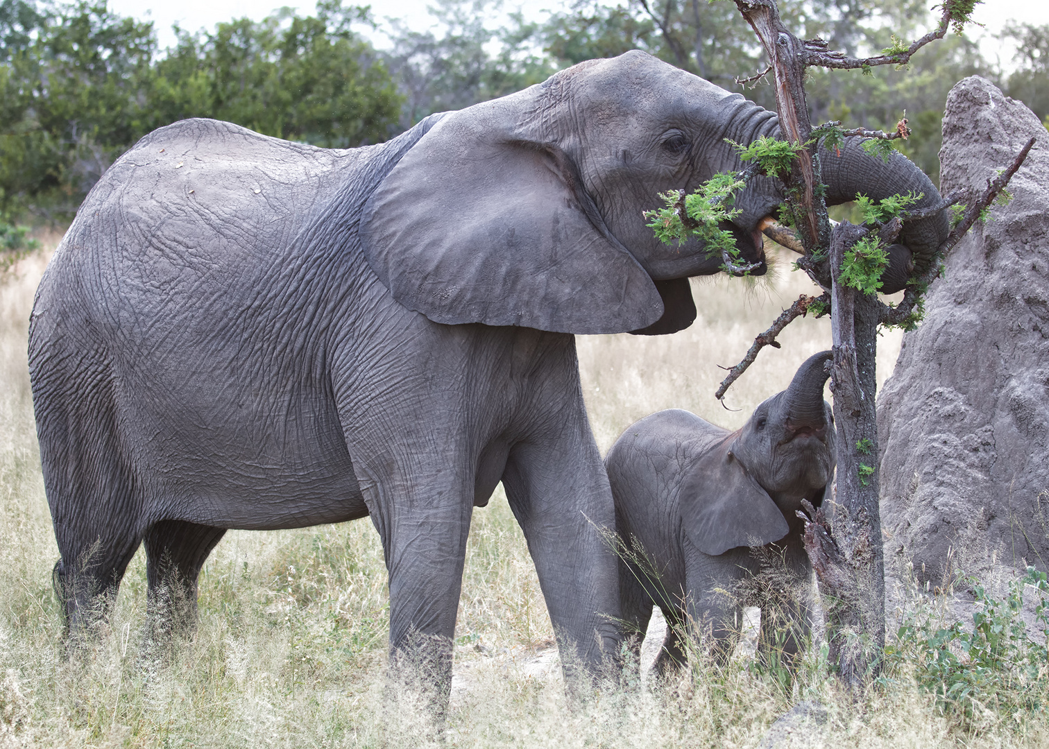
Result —
[{"label": "leafy green tree at far left, behind the elephant's rump", "polygon": [[152,25],[104,3],[41,9],[15,0],[0,35],[15,41],[0,58],[0,210],[43,193],[79,204],[151,124]]}]

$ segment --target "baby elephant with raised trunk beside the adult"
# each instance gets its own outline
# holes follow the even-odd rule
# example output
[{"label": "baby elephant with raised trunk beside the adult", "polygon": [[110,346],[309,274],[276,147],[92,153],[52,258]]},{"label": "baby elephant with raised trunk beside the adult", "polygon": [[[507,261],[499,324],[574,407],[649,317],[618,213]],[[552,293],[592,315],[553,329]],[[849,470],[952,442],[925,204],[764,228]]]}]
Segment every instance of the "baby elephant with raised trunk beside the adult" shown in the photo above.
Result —
[{"label": "baby elephant with raised trunk beside the adult", "polygon": [[830,351],[810,357],[790,387],[734,432],[688,411],[660,411],[630,426],[608,452],[626,545],[623,617],[643,636],[652,605],[663,611],[670,626],[660,673],[685,662],[685,632],[698,643],[709,628],[724,662],[748,588],[772,594],[752,599],[762,606],[763,657],[782,648],[789,663],[808,636],[812,566],[795,511],[801,499],[819,507],[834,472],[834,418],[823,401],[830,360]]}]

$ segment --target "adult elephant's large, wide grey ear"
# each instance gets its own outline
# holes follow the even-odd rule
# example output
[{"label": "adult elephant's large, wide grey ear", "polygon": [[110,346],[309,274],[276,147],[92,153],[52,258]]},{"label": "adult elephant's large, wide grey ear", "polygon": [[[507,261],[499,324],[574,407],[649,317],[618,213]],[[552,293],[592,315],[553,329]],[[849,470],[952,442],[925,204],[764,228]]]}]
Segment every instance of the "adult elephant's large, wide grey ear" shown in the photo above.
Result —
[{"label": "adult elephant's large, wide grey ear", "polygon": [[368,264],[434,322],[625,333],[663,315],[569,155],[538,136],[541,86],[445,116],[365,204]]}]

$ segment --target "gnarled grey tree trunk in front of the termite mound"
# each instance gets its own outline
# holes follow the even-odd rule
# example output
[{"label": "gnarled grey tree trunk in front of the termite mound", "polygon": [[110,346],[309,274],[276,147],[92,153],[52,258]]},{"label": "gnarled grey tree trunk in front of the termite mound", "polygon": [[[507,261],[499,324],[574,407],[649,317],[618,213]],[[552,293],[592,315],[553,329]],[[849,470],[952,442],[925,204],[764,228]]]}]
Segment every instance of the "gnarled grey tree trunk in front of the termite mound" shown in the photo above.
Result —
[{"label": "gnarled grey tree trunk in front of the termite mound", "polygon": [[[884,571],[878,509],[875,349],[879,308],[875,296],[838,283],[844,253],[864,235],[849,223],[833,235],[826,202],[817,197],[819,162],[811,142],[805,97],[804,43],[779,20],[774,0],[736,0],[744,18],[765,47],[775,77],[776,106],[783,136],[799,146],[787,178],[788,201],[806,250],[808,266],[826,284],[831,281],[834,365],[831,387],[838,428],[837,490],[831,526],[819,513],[806,547],[828,599],[830,661],[838,666],[850,690],[868,683],[885,643]],[[830,245],[830,279],[811,262]],[[863,463],[863,459],[866,463]],[[815,518],[814,518],[815,519]]]}]

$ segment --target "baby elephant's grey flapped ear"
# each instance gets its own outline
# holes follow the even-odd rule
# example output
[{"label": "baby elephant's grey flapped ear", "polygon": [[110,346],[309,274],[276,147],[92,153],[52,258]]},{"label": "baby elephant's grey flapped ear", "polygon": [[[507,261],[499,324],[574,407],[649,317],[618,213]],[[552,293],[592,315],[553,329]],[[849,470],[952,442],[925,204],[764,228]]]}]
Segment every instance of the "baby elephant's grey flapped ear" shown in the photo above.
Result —
[{"label": "baby elephant's grey flapped ear", "polygon": [[704,554],[764,545],[790,530],[772,497],[728,447],[711,450],[692,464],[679,497],[685,535]]}]

